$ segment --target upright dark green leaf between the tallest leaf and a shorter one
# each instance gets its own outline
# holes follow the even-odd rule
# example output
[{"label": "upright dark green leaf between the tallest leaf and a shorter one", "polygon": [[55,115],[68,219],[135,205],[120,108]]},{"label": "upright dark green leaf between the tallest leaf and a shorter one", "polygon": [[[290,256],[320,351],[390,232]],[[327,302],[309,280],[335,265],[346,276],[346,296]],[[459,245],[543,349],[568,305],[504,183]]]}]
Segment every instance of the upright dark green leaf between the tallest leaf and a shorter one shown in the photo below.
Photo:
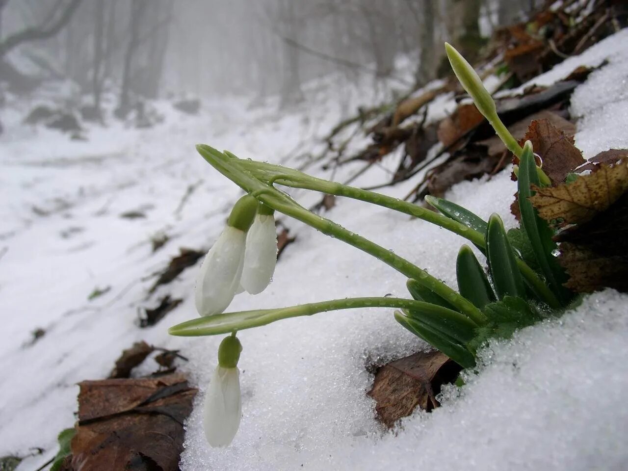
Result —
[{"label": "upright dark green leaf between the tallest leaf and a shorter one", "polygon": [[504,224],[497,214],[491,215],[486,234],[486,252],[497,298],[504,296],[523,297],[526,289],[517,268],[517,261],[506,236]]}]

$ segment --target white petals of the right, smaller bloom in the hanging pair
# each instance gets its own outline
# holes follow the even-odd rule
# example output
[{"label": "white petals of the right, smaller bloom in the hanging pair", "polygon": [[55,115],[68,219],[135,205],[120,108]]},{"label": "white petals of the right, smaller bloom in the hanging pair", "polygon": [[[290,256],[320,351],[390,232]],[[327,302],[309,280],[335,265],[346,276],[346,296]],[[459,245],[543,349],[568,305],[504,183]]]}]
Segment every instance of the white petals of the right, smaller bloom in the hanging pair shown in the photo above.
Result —
[{"label": "white petals of the right, smaller bloom in the hanging pair", "polygon": [[273,279],[277,263],[277,232],[273,215],[257,214],[246,238],[244,269],[240,283],[257,295]]}]

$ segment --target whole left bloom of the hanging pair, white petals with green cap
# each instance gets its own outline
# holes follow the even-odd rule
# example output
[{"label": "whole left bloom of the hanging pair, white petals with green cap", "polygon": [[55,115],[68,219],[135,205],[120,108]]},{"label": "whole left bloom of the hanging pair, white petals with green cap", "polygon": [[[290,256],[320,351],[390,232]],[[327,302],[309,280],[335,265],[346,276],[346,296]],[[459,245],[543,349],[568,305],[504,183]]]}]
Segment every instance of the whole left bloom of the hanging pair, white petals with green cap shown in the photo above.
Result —
[{"label": "whole left bloom of the hanging pair, white petals with green cap", "polygon": [[257,211],[257,200],[246,195],[231,210],[227,227],[207,252],[198,272],[195,301],[202,316],[221,313],[240,286],[246,233]]}]

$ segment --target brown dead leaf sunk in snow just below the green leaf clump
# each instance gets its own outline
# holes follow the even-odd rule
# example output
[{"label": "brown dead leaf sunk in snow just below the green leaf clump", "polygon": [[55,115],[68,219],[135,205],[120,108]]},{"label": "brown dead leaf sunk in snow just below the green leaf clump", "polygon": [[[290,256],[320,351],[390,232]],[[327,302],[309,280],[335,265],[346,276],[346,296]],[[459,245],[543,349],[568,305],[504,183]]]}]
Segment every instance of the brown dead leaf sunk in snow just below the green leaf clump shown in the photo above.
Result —
[{"label": "brown dead leaf sunk in snow just below the green leaf clump", "polygon": [[377,419],[387,427],[412,413],[416,406],[430,411],[438,407],[436,394],[453,382],[460,367],[438,350],[418,352],[380,367],[367,394],[375,399]]}]

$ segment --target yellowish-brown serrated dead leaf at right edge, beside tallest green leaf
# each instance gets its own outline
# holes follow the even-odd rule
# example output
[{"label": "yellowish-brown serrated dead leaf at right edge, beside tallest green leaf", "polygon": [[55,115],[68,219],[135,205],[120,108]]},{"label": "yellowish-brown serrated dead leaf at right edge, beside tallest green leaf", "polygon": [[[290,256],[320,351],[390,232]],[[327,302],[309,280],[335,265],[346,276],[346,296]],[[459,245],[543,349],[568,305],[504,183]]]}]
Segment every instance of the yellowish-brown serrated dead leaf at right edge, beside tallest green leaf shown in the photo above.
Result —
[{"label": "yellowish-brown serrated dead leaf at right edge, beside tallest green leaf", "polygon": [[617,165],[600,165],[590,175],[558,187],[533,187],[530,198],[539,215],[558,224],[582,224],[609,208],[628,189],[628,159]]}]

